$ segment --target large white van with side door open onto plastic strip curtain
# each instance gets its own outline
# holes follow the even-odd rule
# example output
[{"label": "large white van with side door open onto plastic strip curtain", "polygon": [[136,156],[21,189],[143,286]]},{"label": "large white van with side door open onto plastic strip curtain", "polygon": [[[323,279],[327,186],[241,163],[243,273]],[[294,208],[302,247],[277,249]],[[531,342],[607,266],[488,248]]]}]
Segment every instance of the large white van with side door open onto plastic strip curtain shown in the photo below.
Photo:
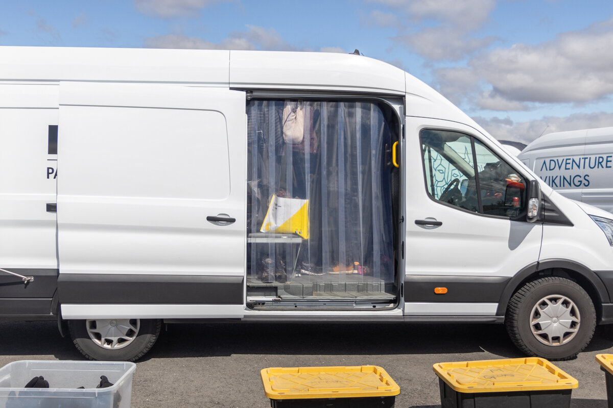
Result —
[{"label": "large white van with side door open onto plastic strip curtain", "polygon": [[135,360],[162,322],[613,322],[610,213],[353,54],[0,47],[0,314]]}]

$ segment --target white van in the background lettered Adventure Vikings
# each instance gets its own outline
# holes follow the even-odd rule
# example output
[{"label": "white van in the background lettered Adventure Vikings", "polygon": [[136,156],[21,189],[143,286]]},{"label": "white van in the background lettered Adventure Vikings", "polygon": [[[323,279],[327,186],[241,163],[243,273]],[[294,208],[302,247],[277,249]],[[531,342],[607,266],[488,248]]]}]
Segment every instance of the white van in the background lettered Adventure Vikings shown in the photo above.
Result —
[{"label": "white van in the background lettered Adventure Vikings", "polygon": [[613,127],[549,133],[517,157],[563,196],[613,213]]}]

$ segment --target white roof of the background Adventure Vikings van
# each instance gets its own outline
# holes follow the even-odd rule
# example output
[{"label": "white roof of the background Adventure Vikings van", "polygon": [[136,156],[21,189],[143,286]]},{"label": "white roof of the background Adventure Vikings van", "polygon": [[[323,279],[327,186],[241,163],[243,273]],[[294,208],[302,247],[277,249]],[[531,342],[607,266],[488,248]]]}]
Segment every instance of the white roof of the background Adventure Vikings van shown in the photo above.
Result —
[{"label": "white roof of the background Adventure Vikings van", "polygon": [[569,130],[567,132],[547,133],[528,144],[522,154],[531,150],[549,147],[577,146],[583,144],[613,143],[613,127]]}]

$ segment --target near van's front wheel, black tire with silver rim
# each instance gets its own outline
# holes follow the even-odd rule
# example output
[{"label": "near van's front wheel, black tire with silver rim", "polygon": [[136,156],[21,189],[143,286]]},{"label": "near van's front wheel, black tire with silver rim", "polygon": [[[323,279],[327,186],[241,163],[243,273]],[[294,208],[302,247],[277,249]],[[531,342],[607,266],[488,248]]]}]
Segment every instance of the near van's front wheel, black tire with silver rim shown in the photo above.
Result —
[{"label": "near van's front wheel, black tire with silver rim", "polygon": [[[548,333],[553,333],[553,324],[549,328],[541,324],[531,325],[533,311],[535,322],[539,316],[543,316],[543,320],[549,319],[544,317],[544,313],[541,314],[547,305],[545,299],[553,301],[553,306],[564,306],[558,309],[568,313],[565,318],[572,316],[576,320],[569,324],[571,329],[576,330],[574,335],[564,329],[562,336],[550,336]],[[537,308],[537,305],[541,306]],[[552,322],[558,324],[557,319],[552,319]],[[546,276],[526,283],[513,295],[504,324],[513,343],[525,354],[547,360],[570,360],[590,343],[596,327],[596,311],[592,299],[581,286],[566,278]],[[562,325],[559,327],[563,328]],[[550,343],[545,344],[547,342]]]}]

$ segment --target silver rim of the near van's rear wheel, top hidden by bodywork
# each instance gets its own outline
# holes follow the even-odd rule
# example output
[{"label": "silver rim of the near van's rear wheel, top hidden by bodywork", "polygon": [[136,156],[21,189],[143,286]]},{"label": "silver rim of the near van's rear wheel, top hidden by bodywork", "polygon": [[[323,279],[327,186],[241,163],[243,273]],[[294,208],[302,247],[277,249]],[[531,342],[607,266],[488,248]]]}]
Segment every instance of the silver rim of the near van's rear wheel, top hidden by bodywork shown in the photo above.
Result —
[{"label": "silver rim of the near van's rear wheel, top hidden by bodywork", "polygon": [[103,349],[128,346],[139,334],[139,319],[96,319],[85,322],[89,338]]}]

